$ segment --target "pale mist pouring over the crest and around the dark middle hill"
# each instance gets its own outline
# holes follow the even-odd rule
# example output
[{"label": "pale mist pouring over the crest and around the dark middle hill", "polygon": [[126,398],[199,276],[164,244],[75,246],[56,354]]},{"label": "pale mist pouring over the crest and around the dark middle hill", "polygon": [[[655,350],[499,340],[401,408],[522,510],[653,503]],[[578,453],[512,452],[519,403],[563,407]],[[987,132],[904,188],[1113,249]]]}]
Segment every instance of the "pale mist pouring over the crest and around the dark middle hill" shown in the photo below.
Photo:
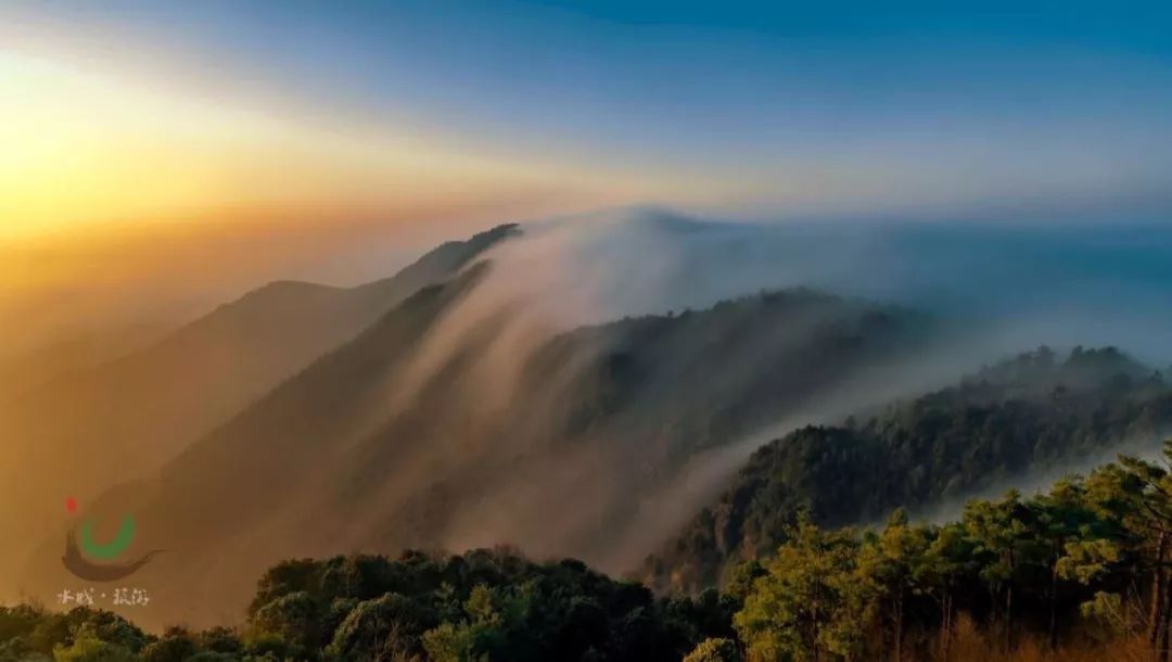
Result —
[{"label": "pale mist pouring over the crest and around the dark middle hill", "polygon": [[[1146,361],[1167,361],[1172,354],[1163,337],[1172,316],[1160,301],[1172,289],[1172,267],[1159,258],[1170,239],[1168,231],[1151,227],[755,225],[655,210],[554,219],[526,226],[522,238],[486,255],[492,264],[488,275],[429,335],[407,373],[410,378],[396,383],[396,397],[416,393],[447,357],[466,347],[471,334],[493,320],[499,325],[495,339],[463,384],[475,394],[469,407],[481,414],[510,410],[526,356],[550,336],[629,315],[702,309],[761,289],[809,287],[897,302],[927,310],[948,327],[947,340],[931,350],[859,370],[803,403],[800,411],[657,477],[656,487],[639,499],[626,533],[609,532],[608,548],[591,558],[607,569],[629,569],[710,500],[756,448],[797,426],[837,423],[1042,343],[1118,344]],[[784,337],[771,334],[771,347],[763,346],[762,355],[784,346]],[[752,368],[741,367],[734,378],[750,380]],[[550,377],[550,390],[558,391],[558,376]],[[540,403],[530,400],[522,407],[540,418]],[[477,451],[470,452],[475,457]],[[510,476],[450,526],[444,542],[455,550],[516,542],[539,553],[581,554],[581,547],[551,544],[560,535],[551,520],[607,524],[598,512],[607,509],[600,504],[621,492],[627,479],[602,477],[621,475],[615,468],[629,463],[631,452],[624,448],[613,456],[584,456],[579,450],[548,458],[525,480]],[[544,485],[546,478],[550,485]],[[564,485],[572,489],[559,490]],[[575,505],[554,499],[553,507],[537,509],[543,512],[529,518],[529,526],[540,535],[518,525],[526,520],[522,513],[559,491],[567,492],[566,498],[577,494]],[[581,501],[591,505],[577,505]]]}]

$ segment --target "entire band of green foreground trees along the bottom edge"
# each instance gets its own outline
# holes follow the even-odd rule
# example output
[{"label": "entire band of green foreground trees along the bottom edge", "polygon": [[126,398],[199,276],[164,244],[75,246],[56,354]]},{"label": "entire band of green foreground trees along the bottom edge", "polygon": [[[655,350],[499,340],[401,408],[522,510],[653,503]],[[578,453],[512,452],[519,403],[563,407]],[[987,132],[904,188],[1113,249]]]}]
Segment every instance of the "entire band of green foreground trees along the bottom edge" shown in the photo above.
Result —
[{"label": "entire band of green foreground trees along the bottom edge", "polygon": [[723,593],[655,598],[578,561],[510,550],[293,560],[238,629],[162,635],[89,608],[0,609],[0,660],[1157,660],[1172,649],[1172,441],[945,524],[799,514]]}]

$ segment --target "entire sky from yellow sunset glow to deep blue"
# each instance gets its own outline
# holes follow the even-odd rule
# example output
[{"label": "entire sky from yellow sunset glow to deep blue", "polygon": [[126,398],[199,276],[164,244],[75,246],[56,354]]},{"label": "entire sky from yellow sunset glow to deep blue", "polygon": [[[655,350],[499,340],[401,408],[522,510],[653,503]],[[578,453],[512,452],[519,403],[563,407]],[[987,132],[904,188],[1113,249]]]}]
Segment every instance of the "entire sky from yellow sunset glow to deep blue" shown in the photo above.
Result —
[{"label": "entire sky from yellow sunset glow to deep blue", "polygon": [[226,292],[627,205],[1160,221],[1172,8],[8,0],[0,145],[0,299],[178,284],[176,233]]}]

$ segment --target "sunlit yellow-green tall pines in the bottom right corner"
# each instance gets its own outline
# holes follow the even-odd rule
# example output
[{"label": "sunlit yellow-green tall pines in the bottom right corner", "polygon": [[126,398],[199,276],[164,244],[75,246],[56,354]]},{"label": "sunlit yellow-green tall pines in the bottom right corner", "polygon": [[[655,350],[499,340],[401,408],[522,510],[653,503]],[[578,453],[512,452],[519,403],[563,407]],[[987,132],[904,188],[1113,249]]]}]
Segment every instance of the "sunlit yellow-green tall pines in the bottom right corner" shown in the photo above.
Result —
[{"label": "sunlit yellow-green tall pines in the bottom right corner", "polygon": [[1130,642],[1168,660],[1170,466],[1172,442],[1161,463],[1123,457],[1033,498],[972,500],[943,525],[897,510],[857,534],[802,518],[752,564],[736,630],[751,661],[970,660],[958,619],[982,658]]}]

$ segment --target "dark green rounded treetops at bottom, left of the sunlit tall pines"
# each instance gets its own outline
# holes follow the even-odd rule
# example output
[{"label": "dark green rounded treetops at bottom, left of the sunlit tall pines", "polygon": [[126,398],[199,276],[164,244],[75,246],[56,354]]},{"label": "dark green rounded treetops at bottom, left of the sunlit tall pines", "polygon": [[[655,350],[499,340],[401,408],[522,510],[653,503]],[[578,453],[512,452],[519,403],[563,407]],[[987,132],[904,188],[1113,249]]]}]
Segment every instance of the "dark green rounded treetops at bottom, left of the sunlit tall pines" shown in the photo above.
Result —
[{"label": "dark green rounded treetops at bottom, left of the sunlit tall pines", "polygon": [[708,637],[731,637],[734,610],[716,592],[655,599],[578,561],[507,550],[339,557],[270,569],[238,632],[151,636],[105,612],[4,609],[0,660],[677,662]]}]

